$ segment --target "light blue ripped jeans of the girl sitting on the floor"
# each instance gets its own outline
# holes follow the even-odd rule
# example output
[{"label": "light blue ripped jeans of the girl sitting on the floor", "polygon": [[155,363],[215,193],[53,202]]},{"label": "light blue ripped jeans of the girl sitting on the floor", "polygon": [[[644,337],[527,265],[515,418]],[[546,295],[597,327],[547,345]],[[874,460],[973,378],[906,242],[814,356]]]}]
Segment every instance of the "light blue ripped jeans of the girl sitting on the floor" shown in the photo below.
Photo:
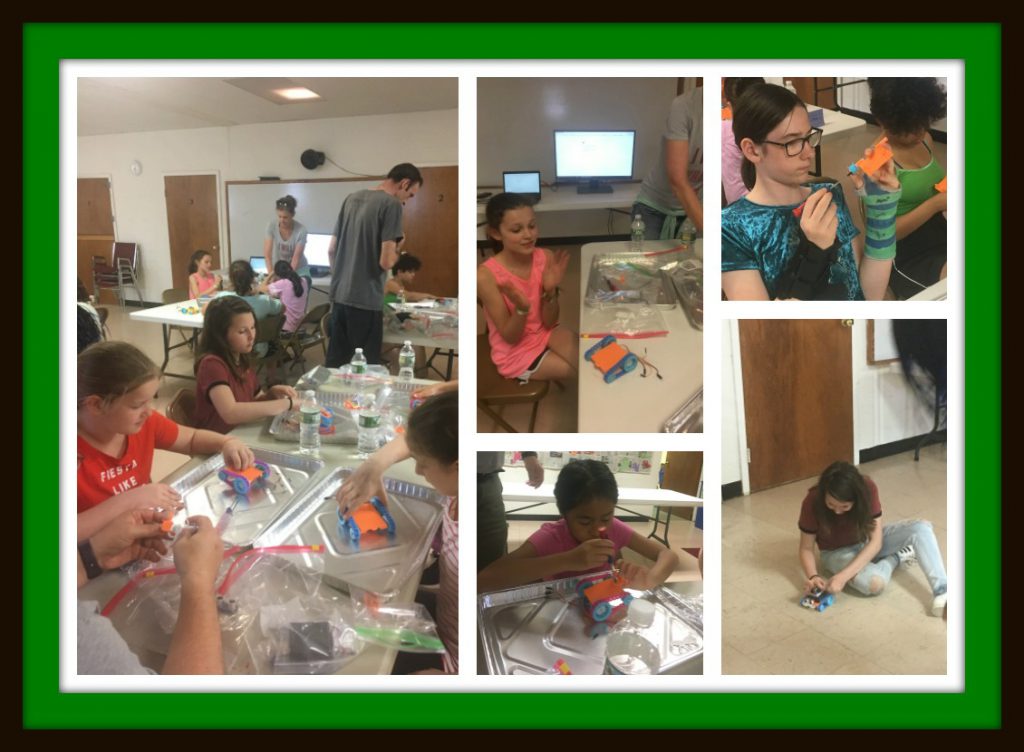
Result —
[{"label": "light blue ripped jeans of the girl sitting on the floor", "polygon": [[[928,578],[932,594],[944,593],[946,568],[942,563],[942,553],[939,551],[939,542],[935,540],[932,524],[924,519],[902,519],[885,526],[882,529],[882,550],[848,584],[864,595],[878,595],[889,584],[893,570],[896,569],[893,565],[893,554],[908,543],[913,546],[918,554],[918,563]],[[863,547],[863,543],[855,543],[852,546],[822,551],[821,563],[824,569],[835,574],[849,565]],[[872,580],[874,587],[871,586]]]}]

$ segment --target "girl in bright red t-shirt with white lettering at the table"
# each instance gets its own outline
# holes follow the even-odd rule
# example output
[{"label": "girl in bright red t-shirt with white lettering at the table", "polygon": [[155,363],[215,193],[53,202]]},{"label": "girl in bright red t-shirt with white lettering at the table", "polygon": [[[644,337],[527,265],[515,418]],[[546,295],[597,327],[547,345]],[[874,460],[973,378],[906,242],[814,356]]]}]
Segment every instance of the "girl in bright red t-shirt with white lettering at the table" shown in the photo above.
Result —
[{"label": "girl in bright red t-shirt with white lettering at the table", "polygon": [[155,449],[220,452],[237,469],[253,463],[238,438],[178,425],[154,410],[160,369],[127,342],[98,342],[78,357],[78,539],[122,512],[174,509],[180,496],[150,476]]}]

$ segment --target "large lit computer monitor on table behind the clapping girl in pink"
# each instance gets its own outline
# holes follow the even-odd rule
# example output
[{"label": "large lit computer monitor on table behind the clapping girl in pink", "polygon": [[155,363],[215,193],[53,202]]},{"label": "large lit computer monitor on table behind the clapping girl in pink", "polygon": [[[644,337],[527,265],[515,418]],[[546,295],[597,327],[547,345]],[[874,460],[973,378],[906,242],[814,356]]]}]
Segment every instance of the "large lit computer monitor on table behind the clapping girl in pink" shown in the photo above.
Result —
[{"label": "large lit computer monitor on table behind the clapping girl in pink", "polygon": [[555,179],[577,182],[577,193],[610,194],[604,180],[633,177],[635,130],[556,130]]}]

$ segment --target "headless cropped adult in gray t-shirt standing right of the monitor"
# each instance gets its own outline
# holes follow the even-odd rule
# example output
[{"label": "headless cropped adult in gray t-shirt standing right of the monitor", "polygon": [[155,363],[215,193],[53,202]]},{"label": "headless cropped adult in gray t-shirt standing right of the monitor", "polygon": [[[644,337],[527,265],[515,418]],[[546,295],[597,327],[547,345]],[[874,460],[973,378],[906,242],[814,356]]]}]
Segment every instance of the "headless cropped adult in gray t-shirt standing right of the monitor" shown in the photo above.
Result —
[{"label": "headless cropped adult in gray t-shirt standing right of the monitor", "polygon": [[657,163],[640,186],[633,214],[643,217],[648,239],[678,238],[675,231],[685,217],[703,232],[702,201],[703,88],[698,87],[673,99]]}]

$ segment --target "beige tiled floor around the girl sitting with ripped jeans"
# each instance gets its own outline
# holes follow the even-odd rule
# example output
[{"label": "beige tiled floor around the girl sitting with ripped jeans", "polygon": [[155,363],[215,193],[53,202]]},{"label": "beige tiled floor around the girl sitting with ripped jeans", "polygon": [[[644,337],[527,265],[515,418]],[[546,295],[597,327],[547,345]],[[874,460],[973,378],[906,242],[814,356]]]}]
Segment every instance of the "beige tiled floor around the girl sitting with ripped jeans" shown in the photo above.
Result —
[{"label": "beige tiled floor around the girl sitting with ripped jeans", "polygon": [[[946,449],[860,466],[878,484],[883,524],[924,518],[946,550]],[[900,568],[883,593],[845,591],[822,613],[801,609],[800,504],[813,479],[722,505],[722,673],[944,674],[946,624],[931,616],[920,567]]]}]

